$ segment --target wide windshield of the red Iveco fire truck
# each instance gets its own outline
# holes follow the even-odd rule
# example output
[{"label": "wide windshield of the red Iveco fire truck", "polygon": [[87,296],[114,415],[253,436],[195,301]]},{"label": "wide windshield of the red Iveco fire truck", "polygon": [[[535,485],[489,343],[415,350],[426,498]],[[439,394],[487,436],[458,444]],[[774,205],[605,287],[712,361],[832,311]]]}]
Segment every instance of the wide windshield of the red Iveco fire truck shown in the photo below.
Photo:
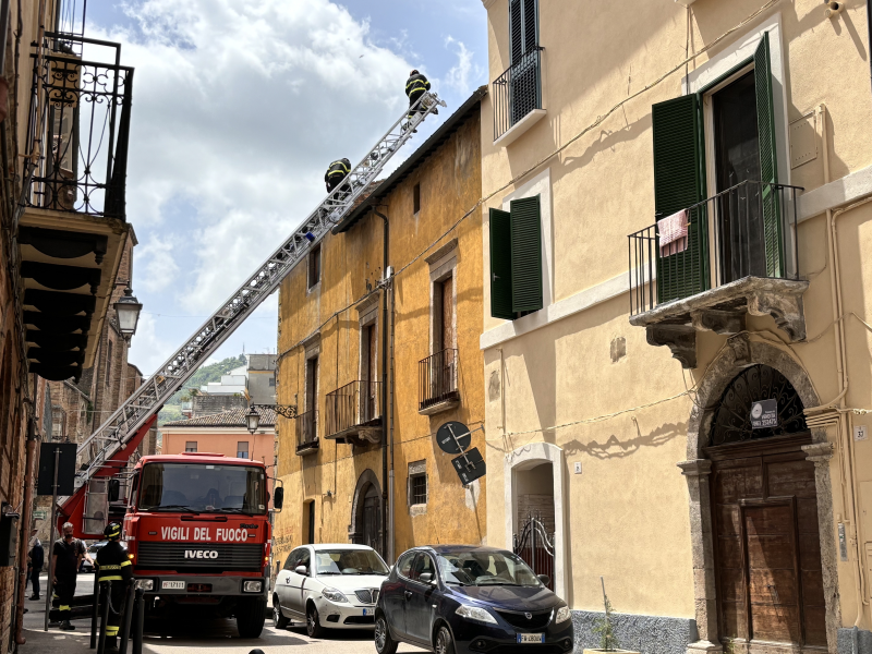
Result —
[{"label": "wide windshield of the red Iveco fire truck", "polygon": [[206,463],[146,463],[142,511],[266,513],[262,468]]}]

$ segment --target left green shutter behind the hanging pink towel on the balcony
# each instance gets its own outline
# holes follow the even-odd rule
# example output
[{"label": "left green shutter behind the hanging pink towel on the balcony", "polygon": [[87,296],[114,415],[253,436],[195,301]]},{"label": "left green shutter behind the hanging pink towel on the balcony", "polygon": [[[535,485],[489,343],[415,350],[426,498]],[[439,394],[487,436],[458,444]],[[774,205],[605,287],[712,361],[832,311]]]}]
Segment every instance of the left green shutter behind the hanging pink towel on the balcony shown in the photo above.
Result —
[{"label": "left green shutter behind the hanging pink towel on the balcony", "polygon": [[[654,132],[654,208],[659,220],[705,199],[700,98],[687,95],[651,109]],[[705,206],[691,211],[688,249],[657,261],[657,302],[694,295],[708,288]]]}]

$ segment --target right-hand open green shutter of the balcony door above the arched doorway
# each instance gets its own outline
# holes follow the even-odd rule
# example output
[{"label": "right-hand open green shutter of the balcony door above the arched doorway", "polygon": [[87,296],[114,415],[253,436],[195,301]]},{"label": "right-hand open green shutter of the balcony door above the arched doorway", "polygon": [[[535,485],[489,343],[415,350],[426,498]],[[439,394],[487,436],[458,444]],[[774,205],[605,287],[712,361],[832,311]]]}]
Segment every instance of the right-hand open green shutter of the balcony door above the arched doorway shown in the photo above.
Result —
[{"label": "right-hand open green shutter of the balcony door above the arched doorway", "polygon": [[754,87],[756,90],[756,124],[760,137],[760,177],[763,205],[763,239],[766,246],[766,275],[784,276],[784,239],[782,211],[778,206],[778,162],[775,156],[775,109],[772,99],[772,66],[770,35],[763,34],[754,52]]}]

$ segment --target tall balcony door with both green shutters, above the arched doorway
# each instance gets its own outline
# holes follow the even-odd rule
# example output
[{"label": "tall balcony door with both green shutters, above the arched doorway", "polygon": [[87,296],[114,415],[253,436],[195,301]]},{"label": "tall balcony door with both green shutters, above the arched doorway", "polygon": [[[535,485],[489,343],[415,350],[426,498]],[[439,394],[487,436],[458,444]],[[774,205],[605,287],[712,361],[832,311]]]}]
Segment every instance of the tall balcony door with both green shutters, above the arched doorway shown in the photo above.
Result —
[{"label": "tall balcony door with both green shutters, above the arched doorway", "polygon": [[694,207],[687,247],[657,257],[658,303],[748,275],[784,276],[772,89],[764,33],[720,80],[652,107],[656,218]]}]

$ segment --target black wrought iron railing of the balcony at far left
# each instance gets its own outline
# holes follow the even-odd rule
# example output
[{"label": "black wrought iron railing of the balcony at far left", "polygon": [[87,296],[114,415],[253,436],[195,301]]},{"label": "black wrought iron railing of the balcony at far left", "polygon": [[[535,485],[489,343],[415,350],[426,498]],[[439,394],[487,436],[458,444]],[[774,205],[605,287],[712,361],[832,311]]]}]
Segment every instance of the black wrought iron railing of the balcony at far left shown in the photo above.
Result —
[{"label": "black wrought iron railing of the balcony at far left", "polygon": [[[120,44],[59,33],[46,43],[52,51],[33,56],[27,203],[124,220],[133,69],[120,64]],[[106,50],[113,63],[82,55]]]}]

